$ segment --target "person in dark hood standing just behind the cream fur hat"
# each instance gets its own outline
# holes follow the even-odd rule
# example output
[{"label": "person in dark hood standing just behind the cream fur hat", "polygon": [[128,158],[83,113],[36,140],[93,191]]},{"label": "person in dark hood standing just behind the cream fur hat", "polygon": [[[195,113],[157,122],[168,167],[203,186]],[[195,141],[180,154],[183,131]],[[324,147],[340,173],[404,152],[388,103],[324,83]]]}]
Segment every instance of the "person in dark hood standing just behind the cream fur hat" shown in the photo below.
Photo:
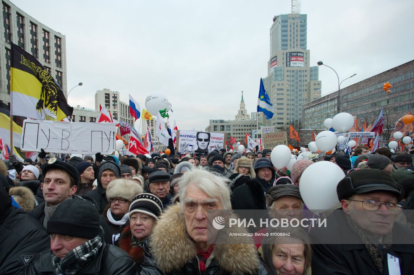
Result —
[{"label": "person in dark hood standing just behind the cream fur hat", "polygon": [[106,199],[106,188],[112,180],[120,178],[121,171],[118,165],[114,164],[112,161],[102,162],[98,167],[97,171],[97,183],[98,188],[89,191],[86,196],[94,199],[98,206],[99,212],[102,213],[108,204]]}]

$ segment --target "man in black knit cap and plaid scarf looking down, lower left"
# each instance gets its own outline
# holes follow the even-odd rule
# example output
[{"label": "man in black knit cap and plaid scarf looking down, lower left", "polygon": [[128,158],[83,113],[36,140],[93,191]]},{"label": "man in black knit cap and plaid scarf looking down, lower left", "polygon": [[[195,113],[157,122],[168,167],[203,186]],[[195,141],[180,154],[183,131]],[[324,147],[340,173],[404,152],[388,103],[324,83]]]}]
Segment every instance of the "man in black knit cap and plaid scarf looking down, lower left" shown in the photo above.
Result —
[{"label": "man in black knit cap and plaid scarf looking down, lower left", "polygon": [[50,250],[36,256],[24,274],[136,274],[128,253],[104,242],[99,213],[86,200],[63,202],[46,231]]}]

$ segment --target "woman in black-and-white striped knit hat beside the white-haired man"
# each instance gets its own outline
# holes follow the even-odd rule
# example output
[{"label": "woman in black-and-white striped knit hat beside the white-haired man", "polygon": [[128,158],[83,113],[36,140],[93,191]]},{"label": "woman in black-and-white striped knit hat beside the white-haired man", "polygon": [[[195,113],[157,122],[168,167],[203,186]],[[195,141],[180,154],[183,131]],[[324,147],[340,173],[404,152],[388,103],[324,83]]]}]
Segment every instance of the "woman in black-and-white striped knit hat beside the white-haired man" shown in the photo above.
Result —
[{"label": "woman in black-and-white striped knit hat beside the white-haired man", "polygon": [[118,246],[127,251],[137,264],[144,259],[142,245],[152,233],[162,210],[161,200],[150,193],[139,194],[129,207],[130,222],[122,231]]}]

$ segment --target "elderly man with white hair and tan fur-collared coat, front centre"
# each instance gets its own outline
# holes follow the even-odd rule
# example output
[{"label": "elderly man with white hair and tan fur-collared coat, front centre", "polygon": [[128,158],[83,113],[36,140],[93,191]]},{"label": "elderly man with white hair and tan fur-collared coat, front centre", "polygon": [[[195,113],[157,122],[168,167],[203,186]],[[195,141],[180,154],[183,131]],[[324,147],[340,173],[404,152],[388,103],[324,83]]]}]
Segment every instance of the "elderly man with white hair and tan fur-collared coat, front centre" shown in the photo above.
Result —
[{"label": "elderly man with white hair and tan fur-collared coat, front centre", "polygon": [[218,231],[207,227],[207,211],[231,210],[226,181],[202,169],[181,177],[180,204],[162,214],[144,244],[139,274],[268,274],[253,244],[210,244]]}]

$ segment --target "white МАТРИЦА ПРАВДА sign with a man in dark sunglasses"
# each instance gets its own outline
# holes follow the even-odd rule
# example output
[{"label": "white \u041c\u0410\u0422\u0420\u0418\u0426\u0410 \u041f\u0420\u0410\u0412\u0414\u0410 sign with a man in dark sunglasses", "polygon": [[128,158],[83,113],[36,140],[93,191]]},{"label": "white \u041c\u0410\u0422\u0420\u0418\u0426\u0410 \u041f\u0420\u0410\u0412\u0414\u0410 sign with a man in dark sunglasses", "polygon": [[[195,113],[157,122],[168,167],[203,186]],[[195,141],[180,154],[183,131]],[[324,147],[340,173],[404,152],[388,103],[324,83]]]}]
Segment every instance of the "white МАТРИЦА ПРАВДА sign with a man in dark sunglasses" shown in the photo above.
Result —
[{"label": "white \u041c\u0410\u0422\u0420\u0418\u0426\u0410 \u041f\u0420\u0410\u0412\u0414\u0410 sign with a man in dark sunglasses", "polygon": [[176,147],[178,152],[205,153],[224,148],[224,133],[208,133],[197,131],[177,131]]}]

